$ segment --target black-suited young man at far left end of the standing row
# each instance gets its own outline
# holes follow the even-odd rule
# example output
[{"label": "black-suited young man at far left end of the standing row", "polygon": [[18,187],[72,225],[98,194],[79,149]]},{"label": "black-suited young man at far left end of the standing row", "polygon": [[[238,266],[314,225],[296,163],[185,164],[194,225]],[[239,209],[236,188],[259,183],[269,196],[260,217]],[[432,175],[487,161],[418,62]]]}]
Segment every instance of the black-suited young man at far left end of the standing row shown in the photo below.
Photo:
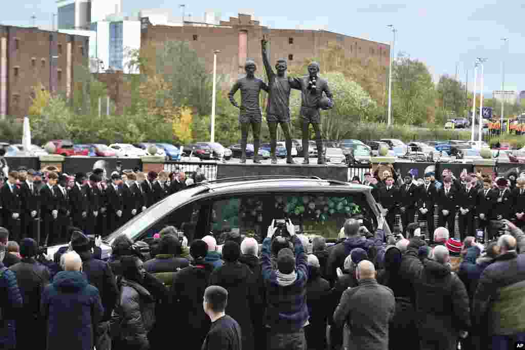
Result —
[{"label": "black-suited young man at far left end of the standing row", "polygon": [[7,175],[7,182],[2,187],[0,196],[2,197],[2,205],[4,208],[4,225],[9,230],[12,240],[20,240],[20,190],[16,185],[18,178],[17,172],[9,172]]}]

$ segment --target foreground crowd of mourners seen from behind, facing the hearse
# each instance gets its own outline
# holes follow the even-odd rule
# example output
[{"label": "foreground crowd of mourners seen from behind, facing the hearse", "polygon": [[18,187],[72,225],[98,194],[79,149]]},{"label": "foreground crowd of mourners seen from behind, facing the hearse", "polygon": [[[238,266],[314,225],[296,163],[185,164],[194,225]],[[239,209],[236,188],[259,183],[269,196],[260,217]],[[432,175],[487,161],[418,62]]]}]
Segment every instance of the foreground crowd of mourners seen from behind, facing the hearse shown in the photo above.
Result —
[{"label": "foreground crowd of mourners seen from behind, facing the hearse", "polygon": [[[144,252],[127,236],[100,259],[81,229],[53,257],[0,228],[0,344],[5,349],[493,349],[525,341],[525,234],[433,245],[371,233],[350,218],[341,238],[286,234],[222,247],[169,226]],[[217,259],[217,257],[219,257]],[[28,336],[30,333],[30,336]],[[174,335],[176,336],[174,337]]]}]

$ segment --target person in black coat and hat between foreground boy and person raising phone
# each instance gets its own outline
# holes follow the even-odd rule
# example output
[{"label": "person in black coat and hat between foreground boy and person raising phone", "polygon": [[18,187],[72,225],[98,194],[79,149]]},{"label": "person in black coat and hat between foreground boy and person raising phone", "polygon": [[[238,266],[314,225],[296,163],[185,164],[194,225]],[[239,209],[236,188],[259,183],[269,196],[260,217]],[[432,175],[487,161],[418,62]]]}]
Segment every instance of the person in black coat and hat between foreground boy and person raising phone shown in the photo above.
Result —
[{"label": "person in black coat and hat between foreground boy and person raising phone", "polygon": [[[240,247],[235,241],[223,246],[225,264],[216,268],[209,277],[210,285],[220,285],[228,291],[226,314],[233,317],[240,326],[243,349],[254,348],[254,318],[252,314],[260,303],[256,277],[250,268],[240,263]],[[262,317],[262,315],[257,315]],[[260,322],[259,322],[260,323]]]}]

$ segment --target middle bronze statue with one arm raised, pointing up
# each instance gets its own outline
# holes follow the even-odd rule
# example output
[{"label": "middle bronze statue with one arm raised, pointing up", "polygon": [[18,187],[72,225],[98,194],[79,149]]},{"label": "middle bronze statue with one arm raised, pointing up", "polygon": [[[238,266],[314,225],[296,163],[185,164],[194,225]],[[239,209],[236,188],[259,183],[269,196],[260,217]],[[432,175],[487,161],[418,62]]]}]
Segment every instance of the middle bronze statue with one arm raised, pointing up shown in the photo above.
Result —
[{"label": "middle bronze statue with one arm raised, pointing up", "polygon": [[290,135],[290,90],[291,87],[299,89],[299,84],[286,74],[288,64],[285,59],[278,59],[275,65],[277,74],[270,66],[266,46],[268,41],[261,40],[262,62],[268,77],[268,103],[266,106],[266,121],[270,131],[270,156],[271,163],[277,164],[275,149],[277,147],[277,126],[281,124],[282,133],[286,140],[286,163],[295,164],[292,158],[292,140]]}]

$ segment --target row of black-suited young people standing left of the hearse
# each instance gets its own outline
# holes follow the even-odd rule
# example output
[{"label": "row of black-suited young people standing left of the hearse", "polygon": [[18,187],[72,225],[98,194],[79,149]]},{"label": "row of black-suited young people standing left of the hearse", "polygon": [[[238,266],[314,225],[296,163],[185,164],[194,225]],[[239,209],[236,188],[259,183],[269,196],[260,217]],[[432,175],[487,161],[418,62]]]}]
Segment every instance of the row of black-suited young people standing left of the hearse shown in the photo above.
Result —
[{"label": "row of black-suited young people standing left of the hearse", "polygon": [[71,227],[88,236],[113,232],[166,196],[194,182],[184,172],[113,172],[70,176],[54,167],[18,168],[0,176],[0,226],[13,241],[29,237],[41,246],[69,241]]}]

